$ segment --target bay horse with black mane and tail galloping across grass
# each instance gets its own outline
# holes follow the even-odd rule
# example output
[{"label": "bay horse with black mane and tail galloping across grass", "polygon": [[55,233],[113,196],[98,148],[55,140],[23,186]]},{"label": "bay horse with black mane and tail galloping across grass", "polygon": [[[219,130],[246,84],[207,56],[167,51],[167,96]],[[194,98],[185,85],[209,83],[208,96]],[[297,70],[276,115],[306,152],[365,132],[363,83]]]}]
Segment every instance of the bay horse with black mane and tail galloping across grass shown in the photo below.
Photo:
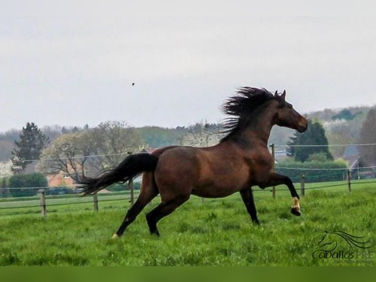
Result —
[{"label": "bay horse with black mane and tail galloping across grass", "polygon": [[217,198],[239,192],[254,224],[259,224],[251,187],[265,189],[285,184],[293,197],[291,212],[300,215],[299,196],[288,176],[273,172],[268,149],[273,125],[304,132],[308,122],[285,100],[286,91],[273,95],[264,88],[241,87],[223,106],[230,115],[224,123],[226,136],[210,147],[168,146],[152,153],[127,156],[116,168],[97,178],[83,178],[83,194],[95,194],[143,172],[140,194],[113,235],[123,235],[141,210],[158,194],[161,203],[147,213],[151,234],[159,236],[157,223],[186,202],[190,195]]}]

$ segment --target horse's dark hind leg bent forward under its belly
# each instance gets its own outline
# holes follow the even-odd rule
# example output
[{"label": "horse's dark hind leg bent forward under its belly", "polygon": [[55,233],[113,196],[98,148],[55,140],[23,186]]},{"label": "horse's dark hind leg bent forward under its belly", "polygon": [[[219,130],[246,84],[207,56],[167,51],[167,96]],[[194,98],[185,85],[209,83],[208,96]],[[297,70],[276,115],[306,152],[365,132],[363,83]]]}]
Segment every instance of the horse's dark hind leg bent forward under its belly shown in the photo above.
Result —
[{"label": "horse's dark hind leg bent forward under its belly", "polygon": [[157,222],[163,217],[172,213],[178,206],[182,205],[189,199],[189,195],[180,195],[174,197],[167,202],[161,202],[155,209],[146,215],[146,221],[148,222],[150,234],[159,236]]}]

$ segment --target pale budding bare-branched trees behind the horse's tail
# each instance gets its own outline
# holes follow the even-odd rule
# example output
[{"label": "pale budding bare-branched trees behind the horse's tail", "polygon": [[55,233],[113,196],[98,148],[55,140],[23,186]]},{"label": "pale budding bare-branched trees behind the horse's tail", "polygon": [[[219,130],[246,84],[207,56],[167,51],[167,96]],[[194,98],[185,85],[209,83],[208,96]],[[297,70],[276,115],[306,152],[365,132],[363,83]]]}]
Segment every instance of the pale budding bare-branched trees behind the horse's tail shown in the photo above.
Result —
[{"label": "pale budding bare-branched trees behind the horse's tail", "polygon": [[43,150],[39,169],[63,172],[75,181],[113,168],[129,152],[139,151],[142,139],[125,122],[108,121],[85,131],[57,137]]}]

